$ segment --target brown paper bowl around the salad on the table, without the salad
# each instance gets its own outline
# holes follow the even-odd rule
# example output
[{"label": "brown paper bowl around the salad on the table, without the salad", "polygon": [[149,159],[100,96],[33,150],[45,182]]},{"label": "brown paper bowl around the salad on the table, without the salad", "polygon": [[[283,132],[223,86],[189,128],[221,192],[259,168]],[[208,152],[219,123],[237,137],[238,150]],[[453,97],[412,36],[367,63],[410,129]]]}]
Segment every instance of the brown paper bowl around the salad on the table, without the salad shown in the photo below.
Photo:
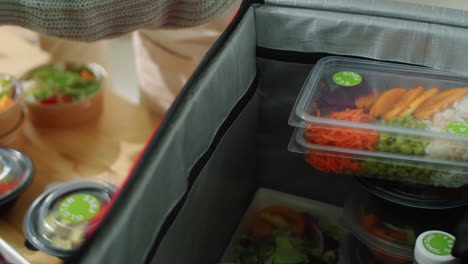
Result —
[{"label": "brown paper bowl around the salad on the table, without the salad", "polygon": [[50,66],[71,71],[84,67],[100,82],[100,89],[90,97],[76,102],[40,104],[36,101],[26,99],[25,105],[28,118],[33,123],[46,127],[72,127],[96,119],[103,108],[103,90],[107,75],[104,68],[95,63],[64,62],[50,64],[33,69],[24,75],[21,80],[23,82],[27,81],[35,71]]}]

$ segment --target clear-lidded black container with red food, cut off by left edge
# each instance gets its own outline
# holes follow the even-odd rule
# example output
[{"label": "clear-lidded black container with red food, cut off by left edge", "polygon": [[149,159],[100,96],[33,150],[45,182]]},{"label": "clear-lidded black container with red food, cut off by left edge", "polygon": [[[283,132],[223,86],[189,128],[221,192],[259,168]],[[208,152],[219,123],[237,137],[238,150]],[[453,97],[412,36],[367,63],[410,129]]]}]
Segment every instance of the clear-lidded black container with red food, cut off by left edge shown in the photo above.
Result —
[{"label": "clear-lidded black container with red food, cut off by left edge", "polygon": [[0,212],[5,212],[29,186],[34,166],[26,155],[0,148]]}]

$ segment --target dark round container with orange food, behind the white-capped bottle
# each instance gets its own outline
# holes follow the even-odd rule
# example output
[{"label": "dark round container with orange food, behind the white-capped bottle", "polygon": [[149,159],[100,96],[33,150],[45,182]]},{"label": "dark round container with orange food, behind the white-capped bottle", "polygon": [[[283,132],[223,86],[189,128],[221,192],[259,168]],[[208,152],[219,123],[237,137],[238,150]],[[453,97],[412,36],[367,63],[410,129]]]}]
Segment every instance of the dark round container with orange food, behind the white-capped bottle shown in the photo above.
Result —
[{"label": "dark round container with orange food, behind the white-capped bottle", "polygon": [[412,264],[414,246],[426,230],[452,232],[466,207],[427,210],[401,206],[363,190],[345,205],[346,225],[382,263]]}]

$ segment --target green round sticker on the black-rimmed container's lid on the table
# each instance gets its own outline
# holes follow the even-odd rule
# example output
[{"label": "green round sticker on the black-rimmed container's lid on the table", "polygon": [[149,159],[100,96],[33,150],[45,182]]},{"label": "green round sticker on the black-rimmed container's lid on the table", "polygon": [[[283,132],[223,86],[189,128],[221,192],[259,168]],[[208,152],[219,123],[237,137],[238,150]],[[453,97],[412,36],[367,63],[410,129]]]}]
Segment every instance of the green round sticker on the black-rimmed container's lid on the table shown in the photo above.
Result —
[{"label": "green round sticker on the black-rimmed container's lid on the table", "polygon": [[93,218],[100,208],[101,202],[95,196],[79,193],[65,198],[58,206],[58,212],[63,219],[80,223]]}]

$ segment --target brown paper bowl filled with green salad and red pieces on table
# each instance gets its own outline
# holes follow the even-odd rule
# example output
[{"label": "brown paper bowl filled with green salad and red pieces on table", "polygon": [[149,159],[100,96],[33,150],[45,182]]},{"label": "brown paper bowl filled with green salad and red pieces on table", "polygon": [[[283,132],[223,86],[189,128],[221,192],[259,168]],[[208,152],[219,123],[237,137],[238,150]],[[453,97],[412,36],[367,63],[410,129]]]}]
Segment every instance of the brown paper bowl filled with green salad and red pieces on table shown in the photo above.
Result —
[{"label": "brown paper bowl filled with green salad and red pieces on table", "polygon": [[57,63],[21,78],[28,118],[48,127],[70,127],[96,119],[103,107],[105,70],[95,63]]}]

